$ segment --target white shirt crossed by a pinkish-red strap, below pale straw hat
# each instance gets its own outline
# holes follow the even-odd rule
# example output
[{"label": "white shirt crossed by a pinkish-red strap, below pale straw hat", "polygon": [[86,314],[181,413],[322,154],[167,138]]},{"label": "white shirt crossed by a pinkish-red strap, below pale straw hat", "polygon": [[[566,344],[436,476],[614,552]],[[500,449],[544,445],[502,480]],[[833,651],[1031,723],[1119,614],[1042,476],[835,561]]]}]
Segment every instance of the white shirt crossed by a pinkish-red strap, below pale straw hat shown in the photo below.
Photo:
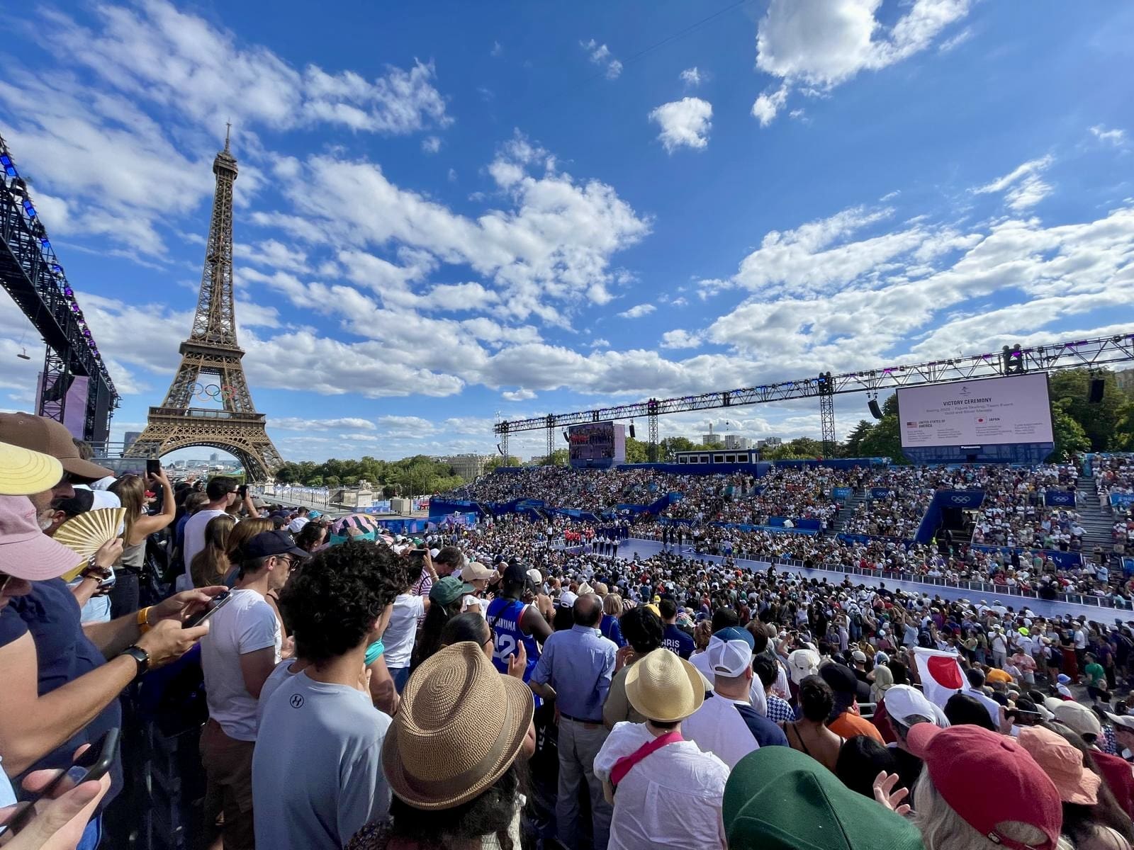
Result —
[{"label": "white shirt crossed by a pinkish-red strap, below pale straw hat", "polygon": [[[651,740],[644,723],[616,723],[594,757],[594,774],[609,780],[619,758]],[[728,765],[693,741],[651,753],[618,784],[609,850],[723,850],[720,806],[727,781]]]}]

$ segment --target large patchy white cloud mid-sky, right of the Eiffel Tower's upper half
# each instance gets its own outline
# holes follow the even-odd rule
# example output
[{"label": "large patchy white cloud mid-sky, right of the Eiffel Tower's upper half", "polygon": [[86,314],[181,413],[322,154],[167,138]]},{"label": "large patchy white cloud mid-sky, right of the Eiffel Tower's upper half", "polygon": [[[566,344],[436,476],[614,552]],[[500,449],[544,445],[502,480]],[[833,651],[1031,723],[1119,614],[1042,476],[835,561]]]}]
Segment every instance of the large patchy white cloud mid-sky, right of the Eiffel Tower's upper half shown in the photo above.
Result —
[{"label": "large patchy white cloud mid-sky, right of the Eiffel Tower's upper half", "polygon": [[555,158],[522,136],[501,148],[490,171],[510,209],[485,210],[476,219],[395,186],[374,163],[331,155],[308,160],[306,178],[285,193],[303,214],[306,238],[341,245],[397,275],[397,266],[371,252],[395,244],[424,258],[424,267],[467,264],[492,282],[506,315],[534,313],[562,324],[575,301],[608,300],[611,255],[640,241],[650,220],[612,187],[558,171]]}]

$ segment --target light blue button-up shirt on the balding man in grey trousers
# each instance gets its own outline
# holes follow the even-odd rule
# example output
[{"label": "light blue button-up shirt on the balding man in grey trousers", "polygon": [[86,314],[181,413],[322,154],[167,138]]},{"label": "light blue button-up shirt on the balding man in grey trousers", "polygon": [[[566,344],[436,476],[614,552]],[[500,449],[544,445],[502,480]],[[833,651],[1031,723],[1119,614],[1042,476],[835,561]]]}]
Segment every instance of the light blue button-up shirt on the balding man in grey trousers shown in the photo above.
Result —
[{"label": "light blue button-up shirt on the balding man in grey trousers", "polygon": [[550,683],[556,689],[556,705],[561,714],[601,723],[617,652],[613,641],[602,637],[598,629],[573,626],[544,641],[532,681]]}]

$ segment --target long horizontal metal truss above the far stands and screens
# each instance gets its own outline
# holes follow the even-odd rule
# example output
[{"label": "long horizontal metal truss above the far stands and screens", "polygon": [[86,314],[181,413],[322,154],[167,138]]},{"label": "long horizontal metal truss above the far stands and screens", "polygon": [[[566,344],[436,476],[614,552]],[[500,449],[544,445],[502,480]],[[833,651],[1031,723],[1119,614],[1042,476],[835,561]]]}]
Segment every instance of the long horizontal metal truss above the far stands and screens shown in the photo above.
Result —
[{"label": "long horizontal metal truss above the far stands and screens", "polygon": [[[1007,346],[1000,352],[968,357],[950,357],[928,363],[900,364],[864,372],[820,373],[814,377],[779,383],[744,386],[738,390],[705,392],[671,399],[648,399],[631,405],[575,410],[567,414],[548,414],[530,419],[499,422],[493,433],[501,437],[507,457],[508,435],[521,431],[548,430],[551,445],[556,428],[582,425],[589,422],[633,419],[645,416],[650,423],[649,458],[658,458],[658,416],[689,410],[713,410],[746,405],[764,405],[789,399],[819,398],[822,419],[823,452],[835,450],[835,396],[848,392],[878,392],[919,384],[941,384],[971,381],[980,377],[1001,377],[1025,372],[1058,372],[1073,368],[1094,368],[1112,363],[1134,360],[1134,333],[1099,337],[1095,339],[1052,342],[1021,348]],[[548,452],[550,456],[550,451]]]}]

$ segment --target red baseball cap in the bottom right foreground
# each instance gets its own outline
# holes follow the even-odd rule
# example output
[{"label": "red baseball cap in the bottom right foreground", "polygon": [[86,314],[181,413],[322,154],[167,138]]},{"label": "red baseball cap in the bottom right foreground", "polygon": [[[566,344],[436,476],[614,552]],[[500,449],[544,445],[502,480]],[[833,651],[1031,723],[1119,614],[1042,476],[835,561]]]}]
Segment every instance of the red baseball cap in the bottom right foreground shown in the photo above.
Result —
[{"label": "red baseball cap in the bottom right foreground", "polygon": [[[1055,850],[1063,828],[1059,791],[1015,738],[973,725],[917,723],[906,743],[949,807],[981,835],[1012,850]],[[1005,835],[997,827],[1008,821],[1031,824],[1044,840],[1025,844]]]}]

